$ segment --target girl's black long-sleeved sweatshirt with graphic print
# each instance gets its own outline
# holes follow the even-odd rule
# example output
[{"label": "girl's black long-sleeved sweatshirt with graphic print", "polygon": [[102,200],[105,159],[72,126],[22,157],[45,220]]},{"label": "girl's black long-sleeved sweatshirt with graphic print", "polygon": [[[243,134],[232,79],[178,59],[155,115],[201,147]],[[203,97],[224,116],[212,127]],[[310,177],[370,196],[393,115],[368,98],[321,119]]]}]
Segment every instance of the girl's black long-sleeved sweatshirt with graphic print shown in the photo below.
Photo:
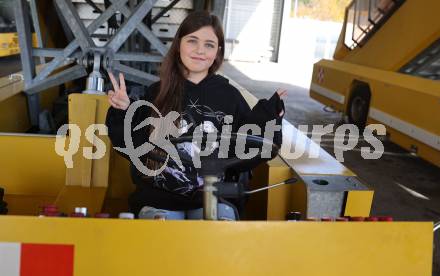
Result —
[{"label": "girl's black long-sleeved sweatshirt with graphic print", "polygon": [[[159,86],[159,82],[152,84],[141,100],[153,103],[159,92]],[[131,102],[133,103],[133,100]],[[198,84],[189,80],[185,81],[182,110],[180,118],[183,133],[192,133],[194,128],[202,123],[206,131],[209,132],[214,127],[220,133],[227,115],[233,116],[232,132],[237,132],[244,124],[257,124],[263,133],[266,122],[275,119],[277,125],[281,124],[282,117],[279,113],[284,110],[284,105],[275,93],[269,100],[260,100],[251,110],[240,91],[229,84],[226,78],[214,74],[208,75]],[[126,113],[127,111],[113,107],[108,110],[106,125],[114,147],[125,148],[124,117]],[[151,109],[147,106],[138,108],[134,113],[131,125],[134,148],[148,141],[149,126],[136,131],[133,128],[150,117],[150,114]],[[191,124],[191,128],[184,128],[185,125]],[[281,131],[275,132],[274,143],[281,145],[281,137]],[[191,147],[191,143],[177,145],[177,149],[184,154],[191,155],[188,145]],[[130,160],[127,155],[122,155]],[[140,160],[145,164],[147,156],[142,156]],[[131,163],[133,182],[136,184],[136,190],[129,198],[131,211],[138,213],[143,206],[166,210],[190,210],[202,207],[202,193],[197,192],[202,181],[195,168],[193,166],[179,168],[170,164],[169,162],[161,174],[149,177],[143,175]]]}]

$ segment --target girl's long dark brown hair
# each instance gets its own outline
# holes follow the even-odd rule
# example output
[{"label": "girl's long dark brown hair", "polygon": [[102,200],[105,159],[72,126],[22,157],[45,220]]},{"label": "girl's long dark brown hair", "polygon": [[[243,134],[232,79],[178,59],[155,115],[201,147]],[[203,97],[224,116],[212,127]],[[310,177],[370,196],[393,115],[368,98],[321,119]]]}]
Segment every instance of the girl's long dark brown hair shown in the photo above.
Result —
[{"label": "girl's long dark brown hair", "polygon": [[182,37],[198,31],[200,28],[211,26],[218,39],[218,52],[214,63],[209,68],[208,74],[215,73],[223,63],[225,53],[225,39],[220,20],[217,16],[205,11],[196,11],[189,14],[183,20],[173,43],[165,56],[160,68],[160,90],[154,101],[155,106],[161,114],[165,116],[174,110],[179,113],[182,111],[181,101],[183,86],[187,69],[180,59],[180,42]]}]

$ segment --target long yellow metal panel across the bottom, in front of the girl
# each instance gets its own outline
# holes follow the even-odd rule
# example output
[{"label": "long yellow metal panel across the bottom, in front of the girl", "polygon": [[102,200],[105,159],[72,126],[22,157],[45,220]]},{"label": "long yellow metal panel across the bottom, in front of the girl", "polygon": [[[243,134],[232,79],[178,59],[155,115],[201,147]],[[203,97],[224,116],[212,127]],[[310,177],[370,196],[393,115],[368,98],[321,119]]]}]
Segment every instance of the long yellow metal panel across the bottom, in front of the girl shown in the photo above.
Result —
[{"label": "long yellow metal panel across the bottom, in front of the girl", "polygon": [[0,217],[1,242],[70,244],[74,275],[428,276],[432,223]]}]

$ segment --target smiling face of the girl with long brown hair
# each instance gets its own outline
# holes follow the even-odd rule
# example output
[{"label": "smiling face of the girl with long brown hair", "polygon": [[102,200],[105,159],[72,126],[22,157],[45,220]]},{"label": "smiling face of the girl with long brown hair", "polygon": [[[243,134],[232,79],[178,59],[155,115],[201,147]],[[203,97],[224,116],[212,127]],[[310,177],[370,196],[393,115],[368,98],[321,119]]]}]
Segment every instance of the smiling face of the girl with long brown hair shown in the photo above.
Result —
[{"label": "smiling face of the girl with long brown hair", "polygon": [[187,34],[180,41],[180,59],[189,74],[208,74],[218,52],[218,38],[211,26]]}]

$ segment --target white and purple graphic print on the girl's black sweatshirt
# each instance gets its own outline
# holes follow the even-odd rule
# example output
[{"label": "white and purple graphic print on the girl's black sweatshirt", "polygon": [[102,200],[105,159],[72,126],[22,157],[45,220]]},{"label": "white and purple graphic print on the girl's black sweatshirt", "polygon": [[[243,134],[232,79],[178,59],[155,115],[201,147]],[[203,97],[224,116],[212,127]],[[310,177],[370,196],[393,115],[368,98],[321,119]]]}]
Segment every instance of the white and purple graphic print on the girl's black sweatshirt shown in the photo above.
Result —
[{"label": "white and purple graphic print on the girl's black sweatshirt", "polygon": [[[192,133],[195,127],[203,122],[204,132],[213,132],[223,123],[226,114],[222,111],[215,111],[207,105],[197,104],[199,99],[192,101],[186,106],[181,115],[180,133]],[[196,118],[202,118],[202,121]],[[192,160],[200,149],[191,142],[179,143],[177,151],[182,158]],[[154,177],[154,186],[184,196],[192,196],[194,192],[203,185],[203,179],[197,173],[194,166],[184,164],[182,167],[170,164],[163,172]]]}]

